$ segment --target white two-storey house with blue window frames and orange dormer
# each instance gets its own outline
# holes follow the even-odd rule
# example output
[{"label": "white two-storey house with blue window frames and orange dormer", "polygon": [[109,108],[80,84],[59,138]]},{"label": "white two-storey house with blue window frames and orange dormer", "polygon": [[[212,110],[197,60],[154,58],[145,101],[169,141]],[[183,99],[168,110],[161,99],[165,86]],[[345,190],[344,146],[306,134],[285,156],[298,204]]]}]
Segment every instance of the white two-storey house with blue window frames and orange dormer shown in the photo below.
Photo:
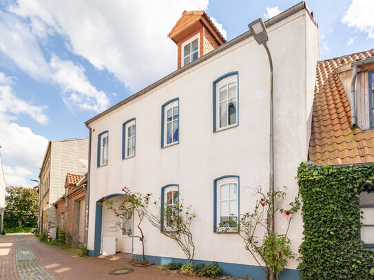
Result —
[{"label": "white two-storey house with blue window frames and orange dormer", "polygon": [[[304,2],[265,25],[274,65],[275,182],[287,186],[291,201],[298,194],[297,168],[308,160],[318,25]],[[89,254],[101,254],[107,245],[103,237],[117,240],[116,251],[141,254],[138,239],[129,239],[116,226],[121,221],[98,205],[103,197],[120,202],[123,186],[156,198],[178,192],[196,210],[194,259],[217,261],[234,276],[247,272],[253,280],[263,279],[240,237],[218,235],[216,228],[229,214],[239,217],[253,209],[258,199],[253,188],[269,189],[267,53],[251,32],[225,43],[204,12],[184,12],[169,36],[178,44],[178,67],[183,67],[85,122],[91,147]],[[285,226],[284,218],[276,229]],[[143,231],[147,259],[183,261],[172,239],[147,222]],[[291,232],[292,250],[298,252],[300,215]],[[283,279],[299,279],[297,265],[289,261]]]}]

